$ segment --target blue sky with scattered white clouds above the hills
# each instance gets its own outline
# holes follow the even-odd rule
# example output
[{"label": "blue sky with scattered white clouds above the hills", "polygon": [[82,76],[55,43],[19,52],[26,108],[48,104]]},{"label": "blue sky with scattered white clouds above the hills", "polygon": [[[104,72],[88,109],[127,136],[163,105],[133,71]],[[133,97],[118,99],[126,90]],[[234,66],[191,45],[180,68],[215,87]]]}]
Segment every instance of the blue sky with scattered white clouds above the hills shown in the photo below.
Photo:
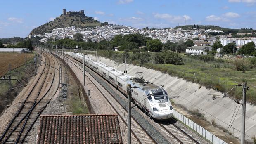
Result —
[{"label": "blue sky with scattered white clouds above the hills", "polygon": [[136,28],[185,24],[256,29],[256,0],[2,0],[0,38],[26,37],[67,11]]}]

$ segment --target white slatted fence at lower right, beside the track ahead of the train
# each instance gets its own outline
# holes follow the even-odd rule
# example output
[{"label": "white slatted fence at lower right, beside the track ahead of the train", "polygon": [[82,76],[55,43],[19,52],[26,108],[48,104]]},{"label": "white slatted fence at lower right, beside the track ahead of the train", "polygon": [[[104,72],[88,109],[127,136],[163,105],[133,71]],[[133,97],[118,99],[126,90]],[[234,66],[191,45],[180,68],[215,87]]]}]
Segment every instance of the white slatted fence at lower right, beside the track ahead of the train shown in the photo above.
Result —
[{"label": "white slatted fence at lower right, beside the track ahead of the train", "polygon": [[197,123],[193,122],[189,118],[183,116],[181,113],[178,113],[177,111],[174,111],[174,117],[178,120],[180,120],[182,123],[190,127],[192,130],[196,131],[199,135],[203,136],[213,144],[228,144],[226,142],[223,142],[222,139],[216,137],[208,130],[204,129],[204,127],[201,127],[200,125],[197,125]]}]

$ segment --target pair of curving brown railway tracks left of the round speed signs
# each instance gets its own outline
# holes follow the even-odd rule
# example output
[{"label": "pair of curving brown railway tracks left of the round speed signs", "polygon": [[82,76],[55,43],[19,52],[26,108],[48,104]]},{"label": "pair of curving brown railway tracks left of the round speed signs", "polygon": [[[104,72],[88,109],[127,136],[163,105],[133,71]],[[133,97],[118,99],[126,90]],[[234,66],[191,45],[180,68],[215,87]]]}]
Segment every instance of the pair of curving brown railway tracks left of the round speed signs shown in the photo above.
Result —
[{"label": "pair of curving brown railway tracks left of the round speed signs", "polygon": [[[54,65],[53,67],[55,67],[55,60],[49,54],[44,54],[44,56],[45,63]],[[58,64],[57,60],[56,62]],[[19,110],[15,113],[11,122],[5,128],[5,131],[0,137],[0,143],[23,143],[28,132],[36,122],[36,119],[39,117],[45,106],[50,102],[52,97],[47,98],[45,96],[50,91],[55,80],[56,70],[50,68],[50,66],[46,66],[46,64],[36,83],[31,86],[32,88],[27,94],[24,102],[22,102]],[[47,81],[51,82],[48,83]]]}]

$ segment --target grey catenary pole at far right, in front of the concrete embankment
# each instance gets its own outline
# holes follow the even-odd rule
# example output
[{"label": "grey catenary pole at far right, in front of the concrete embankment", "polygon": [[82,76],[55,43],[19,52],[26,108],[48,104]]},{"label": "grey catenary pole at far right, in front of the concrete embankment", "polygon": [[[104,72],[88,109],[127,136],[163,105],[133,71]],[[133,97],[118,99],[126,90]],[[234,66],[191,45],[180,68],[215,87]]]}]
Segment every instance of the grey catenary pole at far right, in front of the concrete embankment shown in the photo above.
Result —
[{"label": "grey catenary pole at far right, in front of the concrete embankment", "polygon": [[246,91],[247,91],[247,87],[246,87],[246,82],[244,82],[243,85],[243,115],[242,115],[242,137],[241,137],[241,144],[244,144],[244,137],[245,137],[245,105],[246,105]]}]

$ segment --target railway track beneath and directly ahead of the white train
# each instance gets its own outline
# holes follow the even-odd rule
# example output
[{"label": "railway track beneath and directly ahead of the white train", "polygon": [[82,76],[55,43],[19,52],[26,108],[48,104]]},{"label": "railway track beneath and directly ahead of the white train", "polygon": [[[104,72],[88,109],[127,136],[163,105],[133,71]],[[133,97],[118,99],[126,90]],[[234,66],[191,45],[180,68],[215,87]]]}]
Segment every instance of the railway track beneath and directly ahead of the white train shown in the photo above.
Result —
[{"label": "railway track beneath and directly ahead of the white train", "polygon": [[[62,54],[60,54],[60,55],[62,57]],[[65,54],[65,56],[69,56],[69,55]],[[67,57],[66,59],[68,60],[69,57]],[[70,60],[68,60],[68,61],[70,61]],[[80,61],[76,61],[73,59],[72,64],[74,64],[76,67],[79,66],[80,68],[78,67],[78,69],[83,71],[81,68],[82,63]],[[95,73],[94,71],[91,71],[91,72]],[[95,85],[95,83],[93,83],[93,84]],[[97,81],[97,84],[100,84],[100,83]],[[149,118],[149,120],[152,120],[152,119]],[[188,134],[188,132],[181,129],[180,127],[178,127],[178,125],[175,124],[176,120],[174,118],[172,118],[169,121],[165,121],[165,122],[155,122],[154,121],[154,123],[156,124],[157,127],[159,127],[167,135],[167,137],[171,137],[173,139],[173,142],[175,142],[177,144],[199,144],[199,142],[194,137],[192,137],[190,134]]]}]

